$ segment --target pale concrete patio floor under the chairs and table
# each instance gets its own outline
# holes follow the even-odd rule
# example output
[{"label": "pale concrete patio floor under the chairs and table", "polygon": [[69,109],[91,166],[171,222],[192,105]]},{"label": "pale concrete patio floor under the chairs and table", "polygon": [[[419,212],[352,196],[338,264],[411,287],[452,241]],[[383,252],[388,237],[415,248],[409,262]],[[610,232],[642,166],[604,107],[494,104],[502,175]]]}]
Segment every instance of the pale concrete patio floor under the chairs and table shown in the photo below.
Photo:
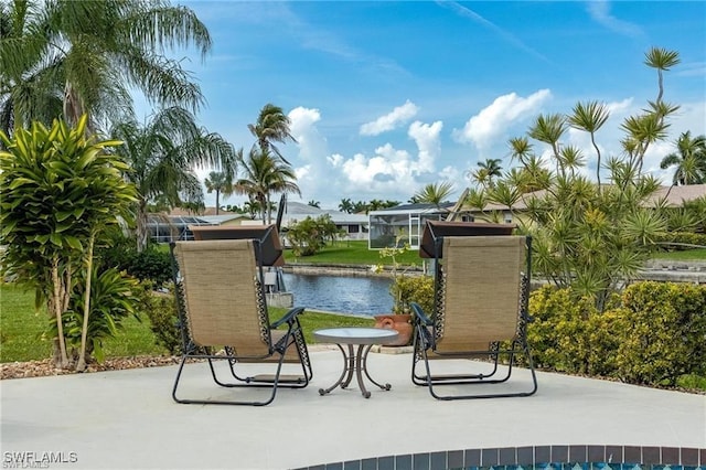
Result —
[{"label": "pale concrete patio floor under the chairs and table", "polygon": [[[338,350],[313,351],[313,383],[266,407],[175,404],[175,366],[2,381],[3,467],[11,452],[67,460],[50,468],[288,469],[513,446],[706,448],[704,395],[539,373],[531,397],[439,402],[410,383],[410,361],[372,353],[371,374],[392,391],[320,396],[342,361]],[[204,364],[185,373],[192,392],[234,393],[212,386]]]}]

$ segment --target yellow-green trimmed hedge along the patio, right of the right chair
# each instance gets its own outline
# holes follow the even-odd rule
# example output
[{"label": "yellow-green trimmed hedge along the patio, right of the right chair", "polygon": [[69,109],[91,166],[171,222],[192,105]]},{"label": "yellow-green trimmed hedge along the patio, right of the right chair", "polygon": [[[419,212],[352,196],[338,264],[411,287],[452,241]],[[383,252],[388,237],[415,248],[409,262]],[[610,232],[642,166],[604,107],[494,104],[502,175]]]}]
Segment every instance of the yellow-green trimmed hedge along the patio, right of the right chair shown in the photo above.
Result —
[{"label": "yellow-green trimmed hedge along the patio, right of the right chair", "polygon": [[638,282],[603,313],[568,289],[530,300],[528,341],[538,367],[675,386],[706,374],[706,286]]}]

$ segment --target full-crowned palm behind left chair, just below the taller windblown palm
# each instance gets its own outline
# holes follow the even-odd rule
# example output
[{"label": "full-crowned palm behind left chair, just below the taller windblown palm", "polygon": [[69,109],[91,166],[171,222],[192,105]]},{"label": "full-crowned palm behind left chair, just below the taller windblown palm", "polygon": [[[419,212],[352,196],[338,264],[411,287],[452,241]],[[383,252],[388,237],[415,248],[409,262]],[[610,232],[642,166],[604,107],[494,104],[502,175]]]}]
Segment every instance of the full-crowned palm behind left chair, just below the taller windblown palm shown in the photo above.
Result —
[{"label": "full-crowned palm behind left chair, just below the taller windblown palm", "polygon": [[237,180],[233,190],[237,194],[247,194],[250,200],[257,201],[263,224],[272,223],[274,193],[296,193],[301,195],[299,186],[295,182],[297,175],[289,164],[280,159],[272,158],[269,151],[250,149],[247,158],[243,153],[238,156],[238,163],[244,178]]}]

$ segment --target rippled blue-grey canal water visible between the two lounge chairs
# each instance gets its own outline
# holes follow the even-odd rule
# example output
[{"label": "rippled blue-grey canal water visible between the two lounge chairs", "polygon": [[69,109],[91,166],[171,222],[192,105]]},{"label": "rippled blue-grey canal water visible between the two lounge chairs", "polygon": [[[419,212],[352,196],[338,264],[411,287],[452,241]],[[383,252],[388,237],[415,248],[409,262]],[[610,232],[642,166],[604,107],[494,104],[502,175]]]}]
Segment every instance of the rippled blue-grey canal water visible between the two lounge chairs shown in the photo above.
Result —
[{"label": "rippled blue-grey canal water visible between the two lounge chairs", "polygon": [[389,313],[393,308],[389,278],[292,273],[282,276],[296,307],[363,316]]}]

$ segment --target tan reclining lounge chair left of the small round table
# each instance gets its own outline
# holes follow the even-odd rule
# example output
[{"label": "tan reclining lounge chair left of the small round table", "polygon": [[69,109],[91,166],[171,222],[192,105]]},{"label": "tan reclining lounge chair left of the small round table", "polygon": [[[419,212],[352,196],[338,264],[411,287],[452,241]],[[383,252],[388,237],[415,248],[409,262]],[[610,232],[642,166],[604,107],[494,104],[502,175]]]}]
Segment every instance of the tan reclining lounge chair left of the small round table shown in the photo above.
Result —
[{"label": "tan reclining lounge chair left of the small round table", "polygon": [[[292,308],[270,323],[263,266],[257,261],[263,259],[260,245],[258,239],[171,244],[184,342],[172,389],[175,402],[267,405],[275,399],[278,387],[303,388],[309,384],[313,373],[298,317],[303,308]],[[190,359],[206,360],[217,385],[267,387],[269,394],[263,399],[180,398],[180,378]],[[227,381],[216,373],[218,361],[227,361]],[[285,362],[301,365],[301,375],[282,374]],[[242,376],[238,367],[243,363],[258,363],[272,373]]]}]

